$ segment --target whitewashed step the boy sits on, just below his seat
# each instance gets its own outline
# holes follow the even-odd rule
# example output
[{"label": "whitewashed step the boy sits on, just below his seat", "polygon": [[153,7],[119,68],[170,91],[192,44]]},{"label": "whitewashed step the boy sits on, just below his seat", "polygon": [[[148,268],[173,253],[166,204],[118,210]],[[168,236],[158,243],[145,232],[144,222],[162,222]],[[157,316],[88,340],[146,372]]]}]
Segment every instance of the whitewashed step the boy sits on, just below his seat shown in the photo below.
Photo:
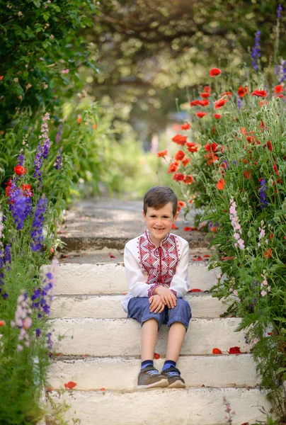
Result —
[{"label": "whitewashed step the boy sits on, just below his seat", "polygon": [[[56,296],[52,302],[52,318],[95,317],[103,319],[126,318],[121,300],[124,295],[71,295]],[[193,317],[219,317],[227,304],[207,293],[193,293],[185,297]]]}]

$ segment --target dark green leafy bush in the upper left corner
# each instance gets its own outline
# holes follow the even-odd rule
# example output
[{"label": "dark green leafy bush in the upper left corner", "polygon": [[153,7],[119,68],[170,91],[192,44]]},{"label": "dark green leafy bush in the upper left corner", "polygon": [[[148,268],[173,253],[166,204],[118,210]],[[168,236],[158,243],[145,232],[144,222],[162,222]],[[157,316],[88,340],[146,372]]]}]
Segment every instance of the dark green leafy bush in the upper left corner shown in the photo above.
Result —
[{"label": "dark green leafy bush in the upper left corner", "polygon": [[[19,108],[50,111],[62,96],[83,87],[79,67],[97,72],[80,30],[92,25],[93,1],[0,1],[0,124],[4,130]],[[72,47],[72,49],[71,49]]]}]

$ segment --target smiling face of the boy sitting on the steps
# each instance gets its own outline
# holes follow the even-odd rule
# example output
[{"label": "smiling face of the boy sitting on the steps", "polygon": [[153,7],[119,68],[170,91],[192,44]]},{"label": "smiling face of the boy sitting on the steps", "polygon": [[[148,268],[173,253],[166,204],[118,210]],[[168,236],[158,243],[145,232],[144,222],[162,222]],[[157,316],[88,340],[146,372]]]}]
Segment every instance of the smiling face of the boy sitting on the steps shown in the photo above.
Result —
[{"label": "smiling face of the boy sitting on the steps", "polygon": [[159,210],[147,207],[146,215],[143,211],[143,217],[147,229],[149,230],[151,242],[159,246],[161,241],[171,232],[173,222],[175,222],[178,217],[178,212],[176,212],[175,217],[173,217],[173,204],[168,202]]}]

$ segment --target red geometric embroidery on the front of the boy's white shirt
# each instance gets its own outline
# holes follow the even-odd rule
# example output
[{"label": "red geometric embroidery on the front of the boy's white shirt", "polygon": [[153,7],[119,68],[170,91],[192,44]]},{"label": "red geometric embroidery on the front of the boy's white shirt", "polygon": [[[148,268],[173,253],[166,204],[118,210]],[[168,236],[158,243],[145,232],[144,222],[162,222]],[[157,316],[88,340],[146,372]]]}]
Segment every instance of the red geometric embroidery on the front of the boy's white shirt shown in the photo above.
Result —
[{"label": "red geometric embroidery on the front of the boy's white shirt", "polygon": [[145,232],[139,238],[139,259],[148,274],[147,283],[152,285],[151,292],[158,284],[169,288],[179,260],[176,237],[168,234],[156,248]]}]

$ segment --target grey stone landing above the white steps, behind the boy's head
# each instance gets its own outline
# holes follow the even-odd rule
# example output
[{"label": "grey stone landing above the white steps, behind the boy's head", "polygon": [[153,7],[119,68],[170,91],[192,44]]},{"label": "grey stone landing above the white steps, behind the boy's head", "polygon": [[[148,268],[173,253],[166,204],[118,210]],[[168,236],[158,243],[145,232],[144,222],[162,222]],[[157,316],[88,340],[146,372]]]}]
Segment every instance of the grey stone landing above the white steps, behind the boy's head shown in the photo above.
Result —
[{"label": "grey stone landing above the white steps, behind the boy's head", "polygon": [[[172,232],[188,240],[190,249],[207,247],[205,232],[188,231],[192,218],[183,219],[180,212],[176,222],[178,229]],[[59,227],[58,237],[68,251],[91,251],[108,249],[122,250],[126,242],[144,232],[141,200],[88,199],[71,205]],[[100,258],[96,258],[96,261]]]}]

